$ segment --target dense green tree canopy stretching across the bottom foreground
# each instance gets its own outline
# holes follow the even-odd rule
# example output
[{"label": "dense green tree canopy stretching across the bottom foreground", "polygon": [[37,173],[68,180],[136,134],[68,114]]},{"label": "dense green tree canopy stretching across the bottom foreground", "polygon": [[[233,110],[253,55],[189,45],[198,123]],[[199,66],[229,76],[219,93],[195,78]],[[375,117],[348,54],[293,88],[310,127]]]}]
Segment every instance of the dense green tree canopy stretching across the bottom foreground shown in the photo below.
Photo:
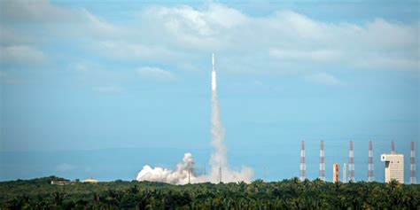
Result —
[{"label": "dense green tree canopy stretching across the bottom foreground", "polygon": [[0,183],[0,209],[420,209],[420,185],[124,182],[51,185],[58,177]]}]

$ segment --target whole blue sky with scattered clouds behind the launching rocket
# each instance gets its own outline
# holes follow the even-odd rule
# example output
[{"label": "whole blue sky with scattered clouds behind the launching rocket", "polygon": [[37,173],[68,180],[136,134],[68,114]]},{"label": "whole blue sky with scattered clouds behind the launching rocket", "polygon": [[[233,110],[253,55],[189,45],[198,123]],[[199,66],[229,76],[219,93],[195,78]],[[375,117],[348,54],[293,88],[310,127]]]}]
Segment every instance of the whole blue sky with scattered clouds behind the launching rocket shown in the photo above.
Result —
[{"label": "whole blue sky with scattered clouds behind the launching rocket", "polygon": [[371,140],[383,181],[379,155],[395,141],[408,180],[409,142],[420,149],[418,6],[2,1],[0,180],[131,180],[184,152],[201,170],[212,52],[232,167],[298,176],[305,140],[313,179],[323,140],[331,180],[352,140],[356,180],[366,180]]}]

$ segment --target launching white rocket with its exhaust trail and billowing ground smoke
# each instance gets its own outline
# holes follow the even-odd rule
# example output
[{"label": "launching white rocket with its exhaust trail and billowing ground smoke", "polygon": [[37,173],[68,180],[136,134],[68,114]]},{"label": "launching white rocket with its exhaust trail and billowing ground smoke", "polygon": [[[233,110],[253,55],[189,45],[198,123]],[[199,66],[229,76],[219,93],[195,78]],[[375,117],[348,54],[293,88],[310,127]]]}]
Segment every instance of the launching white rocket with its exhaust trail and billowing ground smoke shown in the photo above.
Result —
[{"label": "launching white rocket with its exhaust trail and billowing ground smoke", "polygon": [[[183,162],[179,163],[175,171],[161,167],[144,166],[142,171],[137,175],[138,181],[164,182],[173,184],[186,183],[233,183],[241,182],[250,183],[253,178],[253,170],[249,167],[242,167],[240,171],[234,171],[229,168],[227,160],[227,149],[223,144],[225,129],[222,127],[220,118],[220,106],[217,99],[216,71],[214,68],[214,54],[212,55],[212,119],[211,119],[211,136],[214,152],[210,157],[211,171],[209,175],[196,175],[194,173],[194,161],[191,153],[185,153]],[[223,173],[223,177],[222,177]]]}]

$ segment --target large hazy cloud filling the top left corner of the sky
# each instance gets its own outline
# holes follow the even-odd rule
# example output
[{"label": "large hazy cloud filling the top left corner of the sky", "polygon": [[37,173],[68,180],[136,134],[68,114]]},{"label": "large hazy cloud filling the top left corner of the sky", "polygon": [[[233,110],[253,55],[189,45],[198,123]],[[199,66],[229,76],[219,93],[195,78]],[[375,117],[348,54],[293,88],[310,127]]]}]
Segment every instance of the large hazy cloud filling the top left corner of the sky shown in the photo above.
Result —
[{"label": "large hazy cloud filling the top left corner of the sky", "polygon": [[70,39],[77,46],[86,38],[116,38],[124,31],[83,8],[61,7],[48,0],[2,1],[0,17],[4,45],[67,43]]}]

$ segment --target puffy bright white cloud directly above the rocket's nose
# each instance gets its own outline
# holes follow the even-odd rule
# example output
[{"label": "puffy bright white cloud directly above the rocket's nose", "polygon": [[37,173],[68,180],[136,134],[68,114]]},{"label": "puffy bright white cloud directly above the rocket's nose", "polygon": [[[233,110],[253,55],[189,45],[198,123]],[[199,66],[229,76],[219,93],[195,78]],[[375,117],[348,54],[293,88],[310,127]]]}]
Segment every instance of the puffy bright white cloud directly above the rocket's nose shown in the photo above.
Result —
[{"label": "puffy bright white cloud directly above the rocket's nose", "polygon": [[143,32],[156,36],[153,40],[159,38],[156,41],[194,51],[224,48],[229,43],[222,36],[246,20],[241,12],[219,4],[209,4],[206,11],[186,5],[151,7],[140,11],[138,17],[136,21],[147,26],[141,27]]}]

